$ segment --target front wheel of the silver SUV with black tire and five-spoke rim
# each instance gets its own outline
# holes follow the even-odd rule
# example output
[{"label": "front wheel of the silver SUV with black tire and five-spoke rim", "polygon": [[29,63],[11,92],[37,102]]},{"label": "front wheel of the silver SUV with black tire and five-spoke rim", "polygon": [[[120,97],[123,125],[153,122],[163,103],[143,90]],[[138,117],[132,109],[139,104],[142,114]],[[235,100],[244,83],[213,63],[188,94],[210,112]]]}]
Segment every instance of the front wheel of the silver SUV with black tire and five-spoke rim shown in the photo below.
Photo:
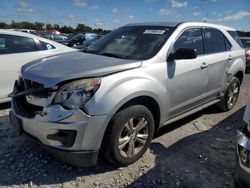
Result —
[{"label": "front wheel of the silver SUV with black tire and five-spoke rim", "polygon": [[[138,128],[138,131],[133,129],[133,134],[131,132],[129,133],[131,129],[128,129],[128,127],[131,128],[131,124],[132,127],[135,125],[135,129]],[[140,125],[144,128],[141,128]],[[139,128],[141,129],[139,130]],[[140,133],[140,131],[146,131],[146,133]],[[127,133],[127,135],[125,133]],[[116,166],[130,165],[136,162],[146,152],[153,138],[153,134],[154,118],[150,110],[142,105],[133,105],[122,109],[114,115],[107,127],[101,148],[103,156]],[[132,138],[133,135],[134,138]],[[145,139],[143,140],[143,142],[145,142],[144,144],[140,143],[141,141],[137,141],[137,139],[139,139],[137,136],[139,135],[148,135],[147,138],[143,138]],[[124,138],[122,138],[122,136],[124,136]],[[129,142],[126,141],[126,146],[123,146],[121,140],[125,138],[126,140],[129,139]],[[132,142],[134,142],[134,145],[131,144]],[[130,144],[133,145],[133,147],[130,147]],[[136,146],[138,148],[136,148]],[[123,149],[125,150],[126,147],[128,151],[124,152]],[[134,149],[129,150],[129,148]],[[125,156],[129,155],[127,153],[132,153],[132,155]]]}]

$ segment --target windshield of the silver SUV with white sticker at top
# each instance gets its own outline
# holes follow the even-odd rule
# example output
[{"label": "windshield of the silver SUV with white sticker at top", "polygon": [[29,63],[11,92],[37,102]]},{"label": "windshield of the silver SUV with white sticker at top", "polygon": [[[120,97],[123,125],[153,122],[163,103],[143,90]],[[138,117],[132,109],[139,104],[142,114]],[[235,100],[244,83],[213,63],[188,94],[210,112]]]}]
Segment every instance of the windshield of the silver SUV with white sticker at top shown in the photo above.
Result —
[{"label": "windshield of the silver SUV with white sticker at top", "polygon": [[84,52],[122,59],[150,59],[161,49],[173,27],[127,26],[109,33]]}]

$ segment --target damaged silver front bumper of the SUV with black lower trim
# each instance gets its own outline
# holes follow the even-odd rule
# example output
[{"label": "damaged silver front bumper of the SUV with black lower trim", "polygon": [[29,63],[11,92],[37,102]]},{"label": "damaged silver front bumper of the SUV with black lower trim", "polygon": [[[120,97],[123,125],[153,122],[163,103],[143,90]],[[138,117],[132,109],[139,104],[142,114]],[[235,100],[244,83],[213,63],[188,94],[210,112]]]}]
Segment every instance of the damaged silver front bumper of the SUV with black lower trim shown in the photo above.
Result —
[{"label": "damaged silver front bumper of the SUV with black lower trim", "polygon": [[[70,164],[89,166],[96,163],[107,115],[89,116],[79,108],[69,110],[60,105],[39,107],[39,113],[30,115],[17,103],[12,99],[10,112],[11,123],[17,130]],[[33,105],[26,108],[33,108]]]}]

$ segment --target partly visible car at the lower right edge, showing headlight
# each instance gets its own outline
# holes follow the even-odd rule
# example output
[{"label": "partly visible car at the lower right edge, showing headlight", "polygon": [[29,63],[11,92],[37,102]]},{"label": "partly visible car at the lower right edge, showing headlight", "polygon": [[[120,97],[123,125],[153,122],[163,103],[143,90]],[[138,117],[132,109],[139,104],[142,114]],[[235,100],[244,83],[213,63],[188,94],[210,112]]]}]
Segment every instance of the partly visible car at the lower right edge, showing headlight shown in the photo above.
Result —
[{"label": "partly visible car at the lower right edge, showing headlight", "polygon": [[246,125],[237,133],[235,177],[238,187],[250,187],[250,99],[243,120]]}]

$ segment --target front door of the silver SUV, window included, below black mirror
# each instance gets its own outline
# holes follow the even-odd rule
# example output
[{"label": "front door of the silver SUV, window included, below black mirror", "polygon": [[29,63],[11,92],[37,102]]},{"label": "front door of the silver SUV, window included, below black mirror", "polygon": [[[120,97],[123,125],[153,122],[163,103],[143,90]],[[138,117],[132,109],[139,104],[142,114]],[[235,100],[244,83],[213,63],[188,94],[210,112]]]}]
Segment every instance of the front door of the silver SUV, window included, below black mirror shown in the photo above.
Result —
[{"label": "front door of the silver SUV, window included, below black mirror", "polygon": [[186,29],[172,46],[172,52],[179,48],[196,49],[198,56],[167,62],[169,118],[200,105],[206,99],[209,79],[203,46],[201,28]]}]

